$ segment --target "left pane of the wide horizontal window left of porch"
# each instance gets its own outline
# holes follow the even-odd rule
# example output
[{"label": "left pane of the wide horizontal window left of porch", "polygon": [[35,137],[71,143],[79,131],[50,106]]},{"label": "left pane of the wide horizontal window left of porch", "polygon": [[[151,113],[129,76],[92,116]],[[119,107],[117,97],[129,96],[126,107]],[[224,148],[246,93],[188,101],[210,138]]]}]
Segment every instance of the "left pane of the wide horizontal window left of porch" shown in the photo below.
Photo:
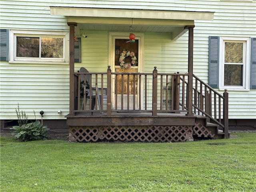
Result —
[{"label": "left pane of the wide horizontal window left of porch", "polygon": [[39,57],[39,37],[17,37],[17,57]]}]

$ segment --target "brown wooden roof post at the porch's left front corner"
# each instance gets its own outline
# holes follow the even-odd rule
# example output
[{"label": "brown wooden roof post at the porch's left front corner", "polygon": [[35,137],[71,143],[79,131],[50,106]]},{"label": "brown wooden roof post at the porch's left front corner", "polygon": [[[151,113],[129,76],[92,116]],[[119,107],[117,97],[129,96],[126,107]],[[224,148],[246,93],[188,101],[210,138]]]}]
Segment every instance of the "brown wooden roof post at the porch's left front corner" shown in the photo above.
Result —
[{"label": "brown wooden roof post at the porch's left front corner", "polygon": [[77,23],[68,22],[69,26],[69,114],[74,115],[74,32]]}]

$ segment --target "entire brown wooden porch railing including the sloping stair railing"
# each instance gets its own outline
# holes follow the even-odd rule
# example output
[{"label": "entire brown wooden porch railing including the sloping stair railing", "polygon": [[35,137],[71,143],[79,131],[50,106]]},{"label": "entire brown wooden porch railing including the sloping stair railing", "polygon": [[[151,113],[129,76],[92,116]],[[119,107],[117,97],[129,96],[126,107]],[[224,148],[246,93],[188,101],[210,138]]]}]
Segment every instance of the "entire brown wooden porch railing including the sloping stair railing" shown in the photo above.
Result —
[{"label": "entire brown wooden porch railing including the sloping stair railing", "polygon": [[[90,87],[82,88],[80,77],[89,76]],[[188,100],[188,74],[158,73],[74,73],[74,115],[94,112],[111,116],[112,112],[193,113],[218,124],[228,137],[228,93],[223,96],[193,75],[193,98]],[[80,89],[81,88],[81,89]],[[84,91],[83,91],[84,90]],[[86,90],[92,94],[86,96]],[[85,99],[84,99],[85,98]],[[86,103],[86,100],[88,104]],[[91,102],[90,102],[91,101]],[[94,107],[95,104],[95,107]],[[100,113],[96,113],[100,112]]]}]

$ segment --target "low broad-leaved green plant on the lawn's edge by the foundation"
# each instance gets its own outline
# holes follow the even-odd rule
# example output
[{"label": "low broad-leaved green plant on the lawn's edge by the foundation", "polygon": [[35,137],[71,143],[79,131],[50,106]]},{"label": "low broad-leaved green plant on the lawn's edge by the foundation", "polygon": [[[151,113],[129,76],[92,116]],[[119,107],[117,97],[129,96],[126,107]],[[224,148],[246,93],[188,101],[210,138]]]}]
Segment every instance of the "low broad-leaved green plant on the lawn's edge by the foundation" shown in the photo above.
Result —
[{"label": "low broad-leaved green plant on the lawn's edge by the foundation", "polygon": [[39,120],[21,126],[13,126],[11,130],[14,130],[12,132],[12,134],[14,134],[14,138],[22,142],[41,139],[45,140],[48,139],[49,136],[49,134],[46,133],[49,128],[47,128],[47,126],[43,126]]}]

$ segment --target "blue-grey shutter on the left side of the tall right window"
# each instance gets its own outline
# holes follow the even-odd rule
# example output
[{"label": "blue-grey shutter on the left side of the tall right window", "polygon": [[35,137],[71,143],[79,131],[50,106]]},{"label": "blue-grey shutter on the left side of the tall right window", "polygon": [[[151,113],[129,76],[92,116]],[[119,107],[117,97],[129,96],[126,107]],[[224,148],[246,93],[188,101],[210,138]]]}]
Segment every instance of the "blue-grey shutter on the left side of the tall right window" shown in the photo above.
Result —
[{"label": "blue-grey shutter on the left side of the tall right window", "polygon": [[212,88],[219,86],[219,52],[220,37],[209,36],[209,71],[208,84]]}]

